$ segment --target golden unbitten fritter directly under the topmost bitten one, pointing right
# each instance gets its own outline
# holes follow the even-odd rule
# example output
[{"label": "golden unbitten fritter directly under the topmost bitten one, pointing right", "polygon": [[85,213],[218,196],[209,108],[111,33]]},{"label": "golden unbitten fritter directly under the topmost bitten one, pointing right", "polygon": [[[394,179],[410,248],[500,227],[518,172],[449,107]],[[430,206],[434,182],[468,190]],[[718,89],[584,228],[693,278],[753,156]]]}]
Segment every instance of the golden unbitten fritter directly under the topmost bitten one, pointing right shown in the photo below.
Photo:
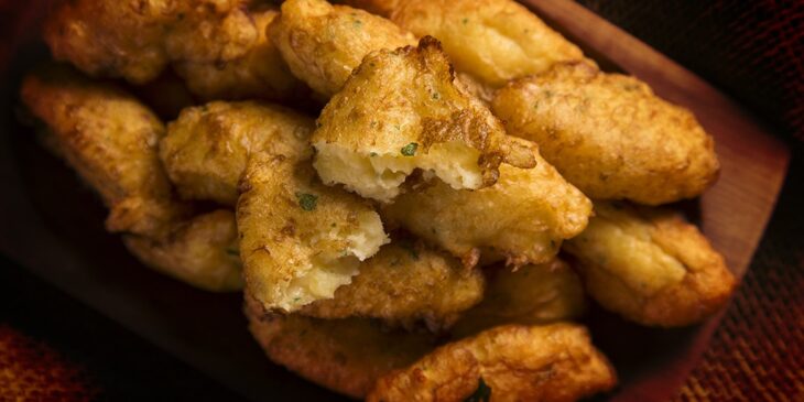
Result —
[{"label": "golden unbitten fritter directly under the topmost bitten one, pointing right", "polygon": [[513,267],[547,262],[562,240],[584,230],[591,202],[532,152],[536,167],[500,165],[497,183],[477,191],[435,182],[384,206],[383,218],[469,267],[486,254],[501,254]]}]

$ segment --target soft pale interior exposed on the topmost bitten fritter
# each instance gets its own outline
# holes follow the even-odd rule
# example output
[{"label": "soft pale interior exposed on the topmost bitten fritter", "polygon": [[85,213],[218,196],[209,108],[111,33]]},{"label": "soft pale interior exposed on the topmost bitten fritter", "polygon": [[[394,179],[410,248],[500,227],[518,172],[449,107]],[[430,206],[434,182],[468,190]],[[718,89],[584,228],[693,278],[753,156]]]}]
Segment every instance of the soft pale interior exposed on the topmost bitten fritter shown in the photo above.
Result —
[{"label": "soft pale interior exposed on the topmost bitten fritter", "polygon": [[453,188],[479,188],[482,173],[480,152],[460,142],[434,144],[427,153],[405,156],[394,152],[352,152],[335,143],[314,144],[318,176],[328,185],[343,184],[363,197],[383,203],[399,195],[399,186],[415,169],[432,172]]}]

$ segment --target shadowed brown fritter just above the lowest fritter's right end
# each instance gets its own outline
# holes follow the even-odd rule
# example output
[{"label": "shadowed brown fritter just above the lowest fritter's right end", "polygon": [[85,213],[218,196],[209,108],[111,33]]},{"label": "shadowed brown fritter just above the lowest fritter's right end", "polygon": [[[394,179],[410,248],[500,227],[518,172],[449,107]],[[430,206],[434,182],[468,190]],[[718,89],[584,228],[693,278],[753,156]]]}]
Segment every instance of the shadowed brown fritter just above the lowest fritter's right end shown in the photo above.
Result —
[{"label": "shadowed brown fritter just above the lowest fritter's right end", "polygon": [[566,262],[554,259],[517,271],[503,267],[490,271],[484,301],[467,311],[450,333],[463,338],[504,324],[550,324],[579,317],[584,287]]}]

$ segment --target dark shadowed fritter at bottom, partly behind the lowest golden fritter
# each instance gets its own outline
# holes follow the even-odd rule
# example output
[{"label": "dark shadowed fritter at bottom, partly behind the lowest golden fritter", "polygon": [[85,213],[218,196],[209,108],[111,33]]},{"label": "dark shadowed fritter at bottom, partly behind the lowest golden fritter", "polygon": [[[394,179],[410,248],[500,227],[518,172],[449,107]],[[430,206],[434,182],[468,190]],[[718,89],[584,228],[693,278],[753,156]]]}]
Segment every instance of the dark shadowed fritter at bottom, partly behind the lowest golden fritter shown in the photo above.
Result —
[{"label": "dark shadowed fritter at bottom, partly behind the lowest golden fritter", "polygon": [[387,329],[365,318],[265,315],[257,302],[247,302],[246,314],[251,334],[271,360],[356,399],[366,396],[377,379],[435,346],[433,335]]}]

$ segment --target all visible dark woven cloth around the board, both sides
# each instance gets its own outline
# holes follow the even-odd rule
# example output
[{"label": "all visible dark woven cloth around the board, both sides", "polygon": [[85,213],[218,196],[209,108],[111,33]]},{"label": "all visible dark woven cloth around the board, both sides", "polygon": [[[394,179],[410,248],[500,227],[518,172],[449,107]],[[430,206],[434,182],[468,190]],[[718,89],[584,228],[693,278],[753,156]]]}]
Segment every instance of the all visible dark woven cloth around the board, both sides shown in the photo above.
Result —
[{"label": "all visible dark woven cloth around the board, both sides", "polygon": [[[804,144],[796,140],[804,139],[804,2],[579,2],[718,85],[787,140],[793,159],[778,208],[676,400],[804,401]],[[0,0],[3,39],[14,3]],[[239,400],[0,257],[0,401],[18,396]]]}]

